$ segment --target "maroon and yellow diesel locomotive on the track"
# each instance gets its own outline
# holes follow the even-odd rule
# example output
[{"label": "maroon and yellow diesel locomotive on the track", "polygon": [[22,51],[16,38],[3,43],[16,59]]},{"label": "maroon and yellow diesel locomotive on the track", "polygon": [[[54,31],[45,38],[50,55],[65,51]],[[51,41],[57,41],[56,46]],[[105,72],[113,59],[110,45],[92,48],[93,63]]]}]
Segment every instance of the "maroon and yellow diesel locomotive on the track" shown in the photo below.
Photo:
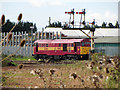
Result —
[{"label": "maroon and yellow diesel locomotive on the track", "polygon": [[81,59],[88,58],[89,39],[36,40],[33,56],[38,59]]}]

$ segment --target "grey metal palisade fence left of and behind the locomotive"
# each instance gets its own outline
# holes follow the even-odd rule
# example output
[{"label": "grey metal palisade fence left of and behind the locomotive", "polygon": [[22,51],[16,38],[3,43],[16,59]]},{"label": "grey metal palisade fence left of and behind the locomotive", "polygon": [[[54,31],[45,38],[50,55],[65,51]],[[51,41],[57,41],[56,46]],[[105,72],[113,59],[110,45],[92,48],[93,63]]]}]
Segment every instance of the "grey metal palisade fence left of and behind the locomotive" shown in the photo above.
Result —
[{"label": "grey metal palisade fence left of and behind the locomotive", "polygon": [[[0,42],[8,33],[0,33]],[[25,39],[26,43],[24,47],[19,46],[20,42]],[[20,56],[32,56],[33,53],[33,43],[35,40],[39,39],[61,39],[61,32],[12,32],[12,40],[8,42],[8,37],[3,41],[2,47],[0,47],[1,53],[4,55],[20,55]],[[18,50],[20,48],[20,50]],[[17,51],[18,50],[18,51]]]}]

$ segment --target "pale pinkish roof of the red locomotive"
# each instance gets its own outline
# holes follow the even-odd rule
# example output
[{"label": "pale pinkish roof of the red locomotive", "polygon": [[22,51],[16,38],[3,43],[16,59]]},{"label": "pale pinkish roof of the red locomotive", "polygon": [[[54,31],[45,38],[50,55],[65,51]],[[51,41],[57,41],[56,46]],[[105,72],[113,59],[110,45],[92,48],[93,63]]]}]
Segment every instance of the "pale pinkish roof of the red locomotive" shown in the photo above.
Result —
[{"label": "pale pinkish roof of the red locomotive", "polygon": [[36,40],[35,43],[74,43],[85,39],[56,39],[56,40]]}]

